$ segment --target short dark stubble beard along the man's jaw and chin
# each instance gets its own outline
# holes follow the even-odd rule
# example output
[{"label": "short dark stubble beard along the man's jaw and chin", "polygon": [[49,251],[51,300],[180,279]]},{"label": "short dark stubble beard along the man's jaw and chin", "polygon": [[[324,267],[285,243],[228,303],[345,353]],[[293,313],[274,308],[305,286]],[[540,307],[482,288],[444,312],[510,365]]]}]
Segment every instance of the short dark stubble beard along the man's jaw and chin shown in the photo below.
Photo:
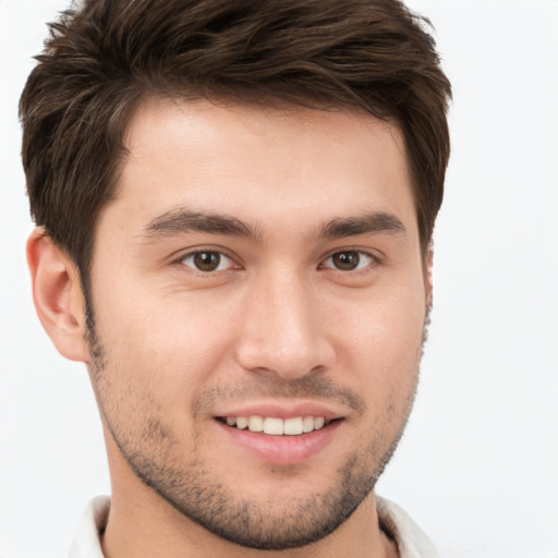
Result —
[{"label": "short dark stubble beard along the man's jaw and chin", "polygon": [[[427,312],[423,340],[426,339],[428,315]],[[230,543],[248,548],[284,550],[302,547],[337,530],[374,489],[403,434],[416,393],[422,347],[417,355],[414,388],[397,417],[399,427],[387,449],[381,434],[384,426],[388,430],[392,430],[392,426],[374,425],[376,435],[371,434],[368,445],[344,460],[337,470],[336,481],[325,492],[304,499],[289,499],[288,502],[251,501],[234,495],[219,480],[211,477],[205,470],[203,459],[193,458],[184,463],[170,458],[172,446],[179,440],[173,439],[157,417],[141,418],[145,424],[138,440],[119,423],[117,408],[111,409],[113,412],[107,412],[111,407],[107,404],[106,397],[110,389],[108,376],[118,371],[107,371],[106,353],[97,338],[93,315],[89,317],[87,341],[98,404],[107,428],[132,471],[184,517]],[[300,392],[300,389],[296,391]],[[286,482],[289,480],[286,478]]]}]

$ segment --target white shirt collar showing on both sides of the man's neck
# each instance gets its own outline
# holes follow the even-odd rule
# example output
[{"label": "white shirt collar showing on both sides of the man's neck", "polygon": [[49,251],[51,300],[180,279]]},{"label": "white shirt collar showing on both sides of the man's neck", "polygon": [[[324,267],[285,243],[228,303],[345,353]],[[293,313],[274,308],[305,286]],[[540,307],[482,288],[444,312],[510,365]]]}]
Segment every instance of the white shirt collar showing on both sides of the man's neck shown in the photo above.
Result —
[{"label": "white shirt collar showing on both sides of the man's neck", "polygon": [[[378,496],[376,501],[381,526],[396,542],[400,558],[439,558],[427,536],[397,504]],[[89,502],[69,558],[105,558],[99,535],[107,524],[109,509],[108,496],[98,496]]]}]

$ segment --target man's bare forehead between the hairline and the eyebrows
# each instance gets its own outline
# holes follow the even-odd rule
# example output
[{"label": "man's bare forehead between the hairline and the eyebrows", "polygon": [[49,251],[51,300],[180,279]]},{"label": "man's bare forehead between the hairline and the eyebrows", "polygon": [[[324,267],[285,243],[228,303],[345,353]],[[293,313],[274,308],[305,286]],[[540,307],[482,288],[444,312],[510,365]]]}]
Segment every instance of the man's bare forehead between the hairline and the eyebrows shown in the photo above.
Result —
[{"label": "man's bare forehead between the hairline and the eyebrows", "polygon": [[125,145],[116,204],[136,227],[179,206],[267,223],[365,210],[415,221],[402,134],[363,112],[149,98]]}]

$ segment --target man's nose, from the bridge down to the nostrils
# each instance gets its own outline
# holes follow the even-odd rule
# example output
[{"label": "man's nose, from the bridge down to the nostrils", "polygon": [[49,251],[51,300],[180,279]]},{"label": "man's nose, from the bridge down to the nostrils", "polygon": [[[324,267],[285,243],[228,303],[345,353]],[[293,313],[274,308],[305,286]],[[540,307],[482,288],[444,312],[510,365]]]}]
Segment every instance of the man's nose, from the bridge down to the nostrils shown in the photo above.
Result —
[{"label": "man's nose, from the bridge down to the nostrils", "polygon": [[295,272],[270,274],[247,295],[236,357],[244,369],[296,379],[330,368],[319,293]]}]

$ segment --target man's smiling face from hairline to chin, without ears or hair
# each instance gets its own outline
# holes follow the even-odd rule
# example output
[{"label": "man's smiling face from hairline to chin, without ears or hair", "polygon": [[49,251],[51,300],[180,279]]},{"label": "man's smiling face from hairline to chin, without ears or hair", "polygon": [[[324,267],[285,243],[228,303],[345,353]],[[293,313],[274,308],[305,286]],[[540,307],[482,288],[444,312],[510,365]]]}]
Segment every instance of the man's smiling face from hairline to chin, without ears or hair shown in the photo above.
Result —
[{"label": "man's smiling face from hairline to chin, without ears or hair", "polygon": [[128,146],[92,267],[112,466],[242,545],[318,539],[366,499],[415,391],[428,288],[401,134],[150,100]]}]

